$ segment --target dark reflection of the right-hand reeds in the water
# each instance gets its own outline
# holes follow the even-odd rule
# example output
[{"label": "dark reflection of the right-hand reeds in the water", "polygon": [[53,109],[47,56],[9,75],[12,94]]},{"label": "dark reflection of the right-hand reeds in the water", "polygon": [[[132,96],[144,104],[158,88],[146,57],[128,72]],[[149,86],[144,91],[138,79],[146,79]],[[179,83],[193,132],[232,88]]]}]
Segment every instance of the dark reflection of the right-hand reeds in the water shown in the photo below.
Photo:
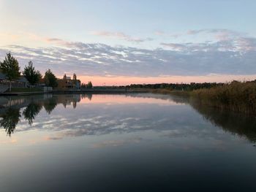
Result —
[{"label": "dark reflection of the right-hand reeds in the water", "polygon": [[[138,96],[138,95],[132,95]],[[246,137],[251,142],[256,142],[256,117],[255,115],[246,115],[244,113],[222,110],[217,107],[210,107],[206,104],[200,104],[195,99],[188,96],[169,96],[162,94],[140,94],[144,98],[158,98],[174,101],[178,104],[189,104],[203,118],[211,122],[214,126],[222,128],[239,137]]]}]

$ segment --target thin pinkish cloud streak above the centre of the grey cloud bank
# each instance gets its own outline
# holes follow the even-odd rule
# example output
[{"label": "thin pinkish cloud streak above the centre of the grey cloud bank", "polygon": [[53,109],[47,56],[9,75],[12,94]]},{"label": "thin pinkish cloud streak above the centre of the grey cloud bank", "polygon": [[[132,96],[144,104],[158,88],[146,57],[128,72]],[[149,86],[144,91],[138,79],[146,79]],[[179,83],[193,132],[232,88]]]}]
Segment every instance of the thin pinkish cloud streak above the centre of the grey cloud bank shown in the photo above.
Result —
[{"label": "thin pinkish cloud streak above the centre of the grey cloud bank", "polygon": [[145,38],[145,39],[138,38],[138,37],[132,37],[132,36],[129,36],[129,35],[124,34],[122,32],[93,31],[93,32],[91,32],[91,34],[97,35],[97,36],[103,36],[103,37],[112,37],[112,38],[116,38],[116,39],[124,39],[124,40],[126,40],[128,42],[136,42],[136,43],[152,41],[153,40],[150,37]]}]

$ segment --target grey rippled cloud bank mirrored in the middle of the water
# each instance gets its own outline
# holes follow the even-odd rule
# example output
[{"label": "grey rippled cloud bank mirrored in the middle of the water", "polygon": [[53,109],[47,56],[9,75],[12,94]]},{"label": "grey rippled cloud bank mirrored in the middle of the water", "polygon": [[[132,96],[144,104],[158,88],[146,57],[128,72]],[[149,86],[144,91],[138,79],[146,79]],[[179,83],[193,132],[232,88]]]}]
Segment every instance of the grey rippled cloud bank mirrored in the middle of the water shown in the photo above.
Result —
[{"label": "grey rippled cloud bank mirrored in the middle of the water", "polygon": [[[43,137],[44,140],[58,140],[66,137],[81,137],[84,135],[105,135],[122,133],[140,133],[141,131],[155,131],[160,137],[187,137],[221,139],[224,134],[215,128],[207,128],[211,123],[206,122],[195,110],[187,107],[186,100],[176,97],[162,96],[156,94],[132,94],[129,99],[159,99],[154,103],[143,103],[143,100],[136,104],[125,102],[108,104],[95,104],[94,97],[91,101],[80,104],[75,110],[67,107],[63,112],[62,104],[57,105],[50,116],[41,111],[35,118],[32,126],[27,126],[23,118],[15,128],[18,131],[50,131],[50,136]],[[96,96],[97,97],[97,96]],[[162,99],[167,105],[161,104]],[[173,105],[176,102],[176,105]],[[170,104],[172,105],[170,107]],[[86,109],[86,110],[84,110]],[[125,110],[124,110],[125,109]],[[161,114],[161,115],[159,115]],[[78,116],[83,116],[78,118]],[[179,117],[184,118],[179,118]],[[152,121],[153,119],[153,121]],[[59,123],[61,120],[61,124]],[[185,122],[185,123],[184,123]],[[193,127],[193,128],[192,128]],[[145,136],[145,134],[143,134]],[[125,137],[123,139],[107,139],[94,142],[91,147],[118,147],[121,145],[132,145],[140,142],[150,142],[146,137]]]}]

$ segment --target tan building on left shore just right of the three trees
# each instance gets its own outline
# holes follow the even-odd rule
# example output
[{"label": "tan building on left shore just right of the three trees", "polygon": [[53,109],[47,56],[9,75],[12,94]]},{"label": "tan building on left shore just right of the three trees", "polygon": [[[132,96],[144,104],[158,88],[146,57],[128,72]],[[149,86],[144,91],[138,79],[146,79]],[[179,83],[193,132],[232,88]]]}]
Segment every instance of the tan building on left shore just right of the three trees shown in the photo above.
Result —
[{"label": "tan building on left shore just right of the three trees", "polygon": [[77,80],[76,74],[73,75],[73,79],[64,74],[62,79],[58,79],[58,88],[62,89],[80,89],[80,80]]}]

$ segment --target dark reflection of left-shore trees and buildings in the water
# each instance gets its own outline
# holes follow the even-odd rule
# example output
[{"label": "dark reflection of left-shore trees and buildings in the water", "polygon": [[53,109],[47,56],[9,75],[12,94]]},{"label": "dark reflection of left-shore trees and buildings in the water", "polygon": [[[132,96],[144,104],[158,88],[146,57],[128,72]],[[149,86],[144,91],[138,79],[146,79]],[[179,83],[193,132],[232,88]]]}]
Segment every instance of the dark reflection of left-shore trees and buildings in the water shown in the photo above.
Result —
[{"label": "dark reflection of left-shore trees and buildings in the water", "polygon": [[[91,97],[91,94],[89,96],[83,95],[83,98],[89,100],[91,100]],[[1,97],[0,126],[5,129],[8,136],[11,136],[22,115],[31,126],[42,108],[50,115],[58,104],[63,104],[65,108],[71,105],[75,109],[80,100],[81,95],[79,94]],[[22,113],[20,112],[21,109],[23,109]]]}]

